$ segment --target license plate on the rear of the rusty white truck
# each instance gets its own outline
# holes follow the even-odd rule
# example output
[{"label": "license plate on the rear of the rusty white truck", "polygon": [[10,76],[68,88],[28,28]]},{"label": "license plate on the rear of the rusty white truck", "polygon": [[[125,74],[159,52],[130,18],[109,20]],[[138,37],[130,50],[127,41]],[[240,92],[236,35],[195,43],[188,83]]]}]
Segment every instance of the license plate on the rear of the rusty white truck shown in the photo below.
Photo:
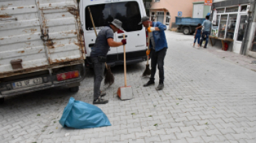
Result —
[{"label": "license plate on the rear of the rusty white truck", "polygon": [[18,89],[21,87],[31,87],[34,85],[40,85],[42,83],[43,83],[42,78],[33,78],[29,80],[23,80],[23,81],[12,83],[12,87],[13,89]]}]

